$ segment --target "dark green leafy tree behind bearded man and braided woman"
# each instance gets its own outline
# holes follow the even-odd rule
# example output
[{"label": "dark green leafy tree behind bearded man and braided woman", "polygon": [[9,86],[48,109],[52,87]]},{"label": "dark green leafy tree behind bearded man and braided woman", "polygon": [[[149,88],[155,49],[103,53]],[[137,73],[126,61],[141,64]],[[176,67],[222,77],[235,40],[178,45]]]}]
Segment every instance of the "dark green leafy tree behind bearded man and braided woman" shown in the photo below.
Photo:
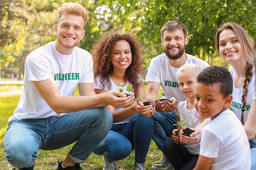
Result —
[{"label": "dark green leafy tree behind bearded man and braided woman", "polygon": [[213,61],[210,63],[213,64],[216,64],[214,56],[218,56],[215,49],[215,33],[225,22],[241,24],[252,38],[256,36],[254,0],[95,0],[95,2],[118,3],[120,7],[113,9],[112,13],[123,13],[124,18],[133,13],[140,13],[140,17],[136,20],[141,20],[141,29],[136,34],[147,47],[149,44],[160,44],[160,29],[167,21],[183,22],[189,30],[189,45],[186,46],[186,52],[208,62],[212,58]]}]

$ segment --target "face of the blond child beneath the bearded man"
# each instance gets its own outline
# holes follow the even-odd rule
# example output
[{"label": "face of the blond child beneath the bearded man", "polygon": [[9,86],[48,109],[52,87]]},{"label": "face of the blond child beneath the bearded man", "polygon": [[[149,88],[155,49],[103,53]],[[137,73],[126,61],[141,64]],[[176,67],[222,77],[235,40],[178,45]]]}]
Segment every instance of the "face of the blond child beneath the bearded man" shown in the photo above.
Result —
[{"label": "face of the blond child beneath the bearded man", "polygon": [[180,85],[180,91],[187,97],[194,97],[196,76],[190,71],[179,72],[178,81]]}]

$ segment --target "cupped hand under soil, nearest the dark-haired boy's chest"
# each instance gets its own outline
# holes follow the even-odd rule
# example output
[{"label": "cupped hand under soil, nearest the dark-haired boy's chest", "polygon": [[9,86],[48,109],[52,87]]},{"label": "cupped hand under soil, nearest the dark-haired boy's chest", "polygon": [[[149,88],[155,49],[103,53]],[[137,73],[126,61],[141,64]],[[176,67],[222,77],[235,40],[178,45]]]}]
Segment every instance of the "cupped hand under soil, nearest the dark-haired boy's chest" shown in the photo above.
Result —
[{"label": "cupped hand under soil, nearest the dark-haired boy's chest", "polygon": [[[191,128],[193,129],[193,128]],[[182,135],[182,131],[180,132],[180,141],[184,144],[195,144],[198,143],[201,139],[201,133],[203,128],[195,129],[195,132],[191,133],[190,137]]]}]

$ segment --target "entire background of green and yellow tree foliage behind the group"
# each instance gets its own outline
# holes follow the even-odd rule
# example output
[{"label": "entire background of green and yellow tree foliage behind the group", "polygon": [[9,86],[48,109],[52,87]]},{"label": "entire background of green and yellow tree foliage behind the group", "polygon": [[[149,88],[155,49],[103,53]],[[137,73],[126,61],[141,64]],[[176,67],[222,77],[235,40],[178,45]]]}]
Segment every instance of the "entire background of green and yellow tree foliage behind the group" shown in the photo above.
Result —
[{"label": "entire background of green and yellow tree foliage behind the group", "polygon": [[[56,10],[67,0],[0,1],[1,70],[22,76],[30,51],[56,39]],[[170,20],[188,28],[190,53],[210,65],[225,65],[215,48],[215,33],[225,22],[242,25],[256,38],[254,0],[74,0],[89,11],[79,46],[90,51],[95,41],[113,31],[130,33],[144,46],[142,64],[163,53],[161,27]]]}]

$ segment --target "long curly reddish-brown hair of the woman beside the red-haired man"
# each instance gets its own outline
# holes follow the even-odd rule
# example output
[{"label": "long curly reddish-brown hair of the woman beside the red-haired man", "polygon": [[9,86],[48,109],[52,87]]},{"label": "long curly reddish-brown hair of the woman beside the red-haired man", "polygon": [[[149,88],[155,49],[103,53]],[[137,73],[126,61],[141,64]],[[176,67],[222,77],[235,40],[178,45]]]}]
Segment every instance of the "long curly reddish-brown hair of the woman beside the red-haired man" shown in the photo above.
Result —
[{"label": "long curly reddish-brown hair of the woman beside the red-haired man", "polygon": [[101,77],[100,81],[103,85],[103,89],[111,88],[110,75],[113,71],[111,62],[111,51],[116,42],[125,40],[130,44],[132,53],[132,62],[126,69],[126,75],[129,82],[132,83],[132,88],[135,93],[138,89],[139,77],[142,73],[141,66],[141,44],[132,35],[119,34],[117,32],[107,35],[101,38],[94,44],[92,48],[92,59],[94,62],[94,78]]}]

